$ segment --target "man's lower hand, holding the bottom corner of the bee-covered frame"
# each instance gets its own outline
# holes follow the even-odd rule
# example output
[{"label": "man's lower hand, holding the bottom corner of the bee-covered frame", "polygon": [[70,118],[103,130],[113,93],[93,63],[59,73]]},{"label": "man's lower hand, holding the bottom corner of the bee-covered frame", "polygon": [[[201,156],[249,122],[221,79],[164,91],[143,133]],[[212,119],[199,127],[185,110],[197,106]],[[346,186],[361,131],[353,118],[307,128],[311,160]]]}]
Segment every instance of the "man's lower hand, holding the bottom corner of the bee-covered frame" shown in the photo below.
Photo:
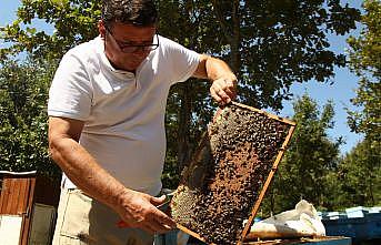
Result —
[{"label": "man's lower hand, holding the bottom corner of the bee-covered frame", "polygon": [[136,227],[151,234],[176,228],[176,223],[156,206],[166,202],[166,196],[153,197],[144,193],[126,190],[120,195],[118,210],[122,221],[119,227]]}]

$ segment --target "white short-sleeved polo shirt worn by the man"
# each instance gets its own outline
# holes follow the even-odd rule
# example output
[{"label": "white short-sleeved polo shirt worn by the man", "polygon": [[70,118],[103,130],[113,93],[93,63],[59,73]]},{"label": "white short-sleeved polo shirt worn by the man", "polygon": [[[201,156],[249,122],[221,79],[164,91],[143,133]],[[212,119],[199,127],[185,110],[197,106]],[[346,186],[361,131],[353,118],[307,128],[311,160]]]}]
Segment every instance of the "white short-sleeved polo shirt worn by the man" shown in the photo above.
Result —
[{"label": "white short-sleeved polo shirt worn by the man", "polygon": [[188,80],[200,62],[197,52],[159,40],[136,75],[110,64],[100,37],[71,49],[56,72],[48,103],[50,116],[84,122],[80,144],[103,169],[124,186],[151,195],[161,190],[169,89]]}]

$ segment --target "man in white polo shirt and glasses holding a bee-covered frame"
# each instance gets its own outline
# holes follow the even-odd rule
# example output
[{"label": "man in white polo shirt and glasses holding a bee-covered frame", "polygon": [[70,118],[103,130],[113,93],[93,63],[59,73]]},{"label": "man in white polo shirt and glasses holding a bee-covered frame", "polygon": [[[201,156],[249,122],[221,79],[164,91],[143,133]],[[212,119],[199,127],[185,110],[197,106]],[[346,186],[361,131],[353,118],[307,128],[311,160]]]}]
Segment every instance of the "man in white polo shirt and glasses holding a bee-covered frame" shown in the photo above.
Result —
[{"label": "man in white polo shirt and glasses holding a bee-covered frame", "polygon": [[104,0],[100,35],[60,62],[48,104],[50,153],[64,172],[54,245],[152,244],[176,227],[154,197],[169,89],[195,76],[220,104],[235,96],[223,61],[157,34],[156,23],[153,1]]}]

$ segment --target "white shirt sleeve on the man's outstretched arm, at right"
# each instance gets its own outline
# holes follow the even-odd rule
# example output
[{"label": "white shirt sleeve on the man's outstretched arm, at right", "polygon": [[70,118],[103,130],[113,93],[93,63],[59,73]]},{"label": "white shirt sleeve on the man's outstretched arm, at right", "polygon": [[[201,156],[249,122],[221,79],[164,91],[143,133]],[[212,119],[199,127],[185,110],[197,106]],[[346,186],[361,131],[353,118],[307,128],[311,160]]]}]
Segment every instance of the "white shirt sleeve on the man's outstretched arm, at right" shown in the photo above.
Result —
[{"label": "white shirt sleeve on the man's outstretched arm, at right", "polygon": [[200,54],[169,39],[164,39],[164,45],[171,63],[172,84],[187,81],[198,68]]}]

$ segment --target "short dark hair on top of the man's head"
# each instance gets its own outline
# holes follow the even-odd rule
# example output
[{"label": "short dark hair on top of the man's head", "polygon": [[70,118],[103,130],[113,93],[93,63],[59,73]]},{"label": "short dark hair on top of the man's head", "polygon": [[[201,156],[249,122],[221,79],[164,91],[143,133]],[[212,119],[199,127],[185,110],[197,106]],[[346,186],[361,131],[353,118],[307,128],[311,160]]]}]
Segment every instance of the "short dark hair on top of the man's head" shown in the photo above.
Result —
[{"label": "short dark hair on top of the man's head", "polygon": [[158,19],[158,11],[152,0],[103,0],[102,20],[111,27],[111,22],[129,23],[133,25],[153,25]]}]

